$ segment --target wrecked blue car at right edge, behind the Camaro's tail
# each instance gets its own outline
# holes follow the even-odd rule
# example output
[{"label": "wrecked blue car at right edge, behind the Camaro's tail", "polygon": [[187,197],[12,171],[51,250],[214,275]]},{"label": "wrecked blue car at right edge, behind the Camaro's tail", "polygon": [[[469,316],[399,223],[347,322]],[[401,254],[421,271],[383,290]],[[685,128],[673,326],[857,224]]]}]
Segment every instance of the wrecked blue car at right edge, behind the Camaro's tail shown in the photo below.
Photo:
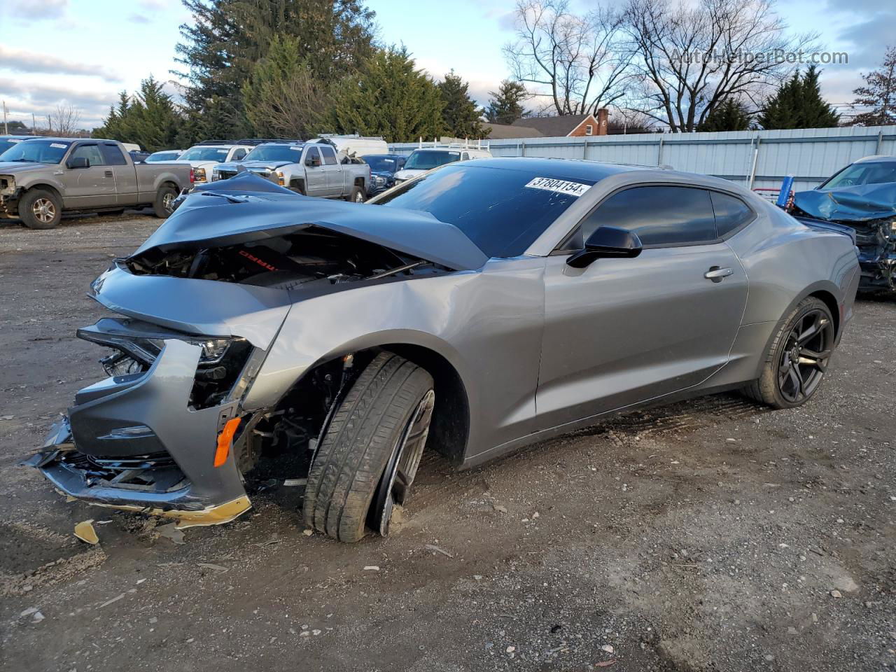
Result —
[{"label": "wrecked blue car at right edge, behind the Camaro's tail", "polygon": [[817,189],[794,194],[791,211],[855,229],[862,268],[858,289],[896,289],[896,157],[849,164]]}]

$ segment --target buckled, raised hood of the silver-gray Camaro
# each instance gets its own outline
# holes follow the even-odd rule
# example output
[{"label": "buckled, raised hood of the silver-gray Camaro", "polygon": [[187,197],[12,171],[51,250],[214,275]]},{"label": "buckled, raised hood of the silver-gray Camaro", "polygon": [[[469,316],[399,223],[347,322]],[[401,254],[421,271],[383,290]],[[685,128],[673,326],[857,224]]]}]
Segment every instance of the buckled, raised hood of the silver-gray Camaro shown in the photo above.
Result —
[{"label": "buckled, raised hood of the silver-gray Camaro", "polygon": [[455,271],[473,271],[488,261],[460,228],[428,212],[302,196],[249,171],[197,186],[134,254],[153,247],[167,252],[177,247],[237,245],[309,226],[329,228]]}]

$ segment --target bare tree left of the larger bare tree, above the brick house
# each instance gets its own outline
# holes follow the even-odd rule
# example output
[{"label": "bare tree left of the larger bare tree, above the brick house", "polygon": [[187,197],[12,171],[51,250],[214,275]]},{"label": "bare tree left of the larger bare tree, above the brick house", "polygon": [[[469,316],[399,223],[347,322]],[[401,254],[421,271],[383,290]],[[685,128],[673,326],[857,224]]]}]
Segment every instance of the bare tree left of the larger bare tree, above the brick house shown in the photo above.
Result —
[{"label": "bare tree left of the larger bare tree, above the brick house", "polygon": [[630,56],[620,52],[623,18],[611,9],[577,16],[568,0],[518,0],[516,40],[504,46],[513,79],[549,98],[557,115],[582,115],[625,95]]}]

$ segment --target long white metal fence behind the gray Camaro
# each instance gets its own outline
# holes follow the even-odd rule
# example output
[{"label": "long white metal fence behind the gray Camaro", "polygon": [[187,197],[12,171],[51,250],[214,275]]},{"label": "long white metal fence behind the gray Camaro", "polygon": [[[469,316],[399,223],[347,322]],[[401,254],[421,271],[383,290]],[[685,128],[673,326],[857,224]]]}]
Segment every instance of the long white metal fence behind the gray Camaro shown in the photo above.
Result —
[{"label": "long white metal fence behind the gray Camaro", "polygon": [[[491,142],[494,156],[590,159],[669,166],[724,177],[742,185],[777,187],[794,177],[797,191],[812,189],[850,162],[871,154],[896,155],[896,126],[800,128],[787,131],[601,135],[522,138]],[[416,142],[391,144],[398,154]]]}]

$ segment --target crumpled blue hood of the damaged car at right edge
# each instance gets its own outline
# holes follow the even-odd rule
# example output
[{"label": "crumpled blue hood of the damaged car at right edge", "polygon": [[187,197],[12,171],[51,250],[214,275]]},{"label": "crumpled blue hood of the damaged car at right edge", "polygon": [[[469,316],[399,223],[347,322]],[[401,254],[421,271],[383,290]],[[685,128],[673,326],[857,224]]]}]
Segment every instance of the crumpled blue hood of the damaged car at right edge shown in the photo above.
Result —
[{"label": "crumpled blue hood of the damaged car at right edge", "polygon": [[882,220],[896,216],[896,183],[797,192],[794,204],[819,220]]}]

